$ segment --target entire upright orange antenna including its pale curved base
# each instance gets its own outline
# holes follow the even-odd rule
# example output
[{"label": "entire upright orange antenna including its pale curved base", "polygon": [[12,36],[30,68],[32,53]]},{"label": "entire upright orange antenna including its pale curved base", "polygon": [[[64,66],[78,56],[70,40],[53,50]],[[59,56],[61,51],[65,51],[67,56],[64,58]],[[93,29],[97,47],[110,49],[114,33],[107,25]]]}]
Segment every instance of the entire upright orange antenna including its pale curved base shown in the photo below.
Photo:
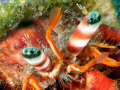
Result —
[{"label": "entire upright orange antenna including its pale curved base", "polygon": [[51,11],[49,26],[46,30],[46,39],[47,39],[48,43],[50,44],[50,47],[52,48],[53,52],[57,56],[58,61],[55,63],[55,66],[54,66],[52,72],[39,72],[39,74],[41,74],[42,76],[48,76],[50,78],[58,77],[59,76],[58,73],[62,66],[61,52],[56,47],[56,45],[52,39],[52,35],[51,35],[52,30],[54,29],[54,27],[56,26],[56,24],[60,18],[60,14],[61,14],[60,8],[54,7],[53,10]]}]

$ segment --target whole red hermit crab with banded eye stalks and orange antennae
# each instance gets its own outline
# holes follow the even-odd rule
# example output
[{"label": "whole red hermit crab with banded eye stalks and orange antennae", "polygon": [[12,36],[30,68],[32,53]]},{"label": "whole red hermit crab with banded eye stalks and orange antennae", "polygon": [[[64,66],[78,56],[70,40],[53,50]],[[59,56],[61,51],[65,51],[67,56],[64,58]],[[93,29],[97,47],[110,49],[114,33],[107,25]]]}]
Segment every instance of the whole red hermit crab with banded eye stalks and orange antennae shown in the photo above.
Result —
[{"label": "whole red hermit crab with banded eye stalks and orange antennae", "polygon": [[[53,31],[61,16],[57,6],[50,12],[49,23],[33,21],[9,31],[0,42],[1,80],[16,90],[119,90],[117,80],[105,75],[112,72],[106,67],[120,66],[120,32],[100,25],[98,12],[85,14],[68,41],[58,42],[61,33]],[[65,41],[66,46],[58,48]]]}]

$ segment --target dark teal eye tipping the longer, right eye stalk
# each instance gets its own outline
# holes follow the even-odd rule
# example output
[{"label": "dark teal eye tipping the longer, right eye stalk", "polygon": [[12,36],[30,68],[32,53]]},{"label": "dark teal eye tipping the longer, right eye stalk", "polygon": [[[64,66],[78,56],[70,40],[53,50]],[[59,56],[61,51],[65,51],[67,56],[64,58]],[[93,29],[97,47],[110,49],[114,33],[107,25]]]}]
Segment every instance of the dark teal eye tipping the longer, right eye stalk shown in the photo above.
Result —
[{"label": "dark teal eye tipping the longer, right eye stalk", "polygon": [[100,21],[101,21],[101,15],[96,11],[91,11],[87,19],[87,24],[91,28],[94,28],[100,24]]}]

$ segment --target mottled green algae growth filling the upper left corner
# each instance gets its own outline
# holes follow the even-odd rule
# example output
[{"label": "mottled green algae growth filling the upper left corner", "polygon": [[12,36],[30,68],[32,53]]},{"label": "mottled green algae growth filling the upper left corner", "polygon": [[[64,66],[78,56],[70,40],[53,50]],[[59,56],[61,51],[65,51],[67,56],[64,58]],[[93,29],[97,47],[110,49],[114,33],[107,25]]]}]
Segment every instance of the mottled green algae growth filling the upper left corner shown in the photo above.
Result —
[{"label": "mottled green algae growth filling the upper left corner", "polygon": [[50,5],[71,5],[73,2],[74,0],[0,0],[0,37],[21,21],[43,15]]}]

